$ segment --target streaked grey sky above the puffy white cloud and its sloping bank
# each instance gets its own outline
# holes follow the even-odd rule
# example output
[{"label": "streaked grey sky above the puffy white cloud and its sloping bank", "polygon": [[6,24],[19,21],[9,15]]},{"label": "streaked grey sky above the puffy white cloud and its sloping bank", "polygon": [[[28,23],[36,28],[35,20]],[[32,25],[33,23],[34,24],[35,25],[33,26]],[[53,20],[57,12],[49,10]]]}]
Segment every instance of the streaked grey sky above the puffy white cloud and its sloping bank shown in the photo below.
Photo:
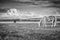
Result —
[{"label": "streaked grey sky above the puffy white cloud and its sloping bank", "polygon": [[[35,16],[54,15],[60,11],[59,2],[40,0],[0,0],[0,8],[16,8],[22,12],[31,12]],[[1,13],[0,13],[1,14]]]}]

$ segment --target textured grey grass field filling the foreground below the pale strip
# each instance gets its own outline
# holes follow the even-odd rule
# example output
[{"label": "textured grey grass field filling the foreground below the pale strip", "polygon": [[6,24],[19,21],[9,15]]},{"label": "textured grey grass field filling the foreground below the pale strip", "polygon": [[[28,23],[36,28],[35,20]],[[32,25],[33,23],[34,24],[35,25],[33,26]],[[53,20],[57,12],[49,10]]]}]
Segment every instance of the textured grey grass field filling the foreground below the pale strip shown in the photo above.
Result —
[{"label": "textured grey grass field filling the foreground below the pale strip", "polygon": [[41,28],[37,23],[0,23],[0,39],[60,40],[59,30],[60,28]]}]

